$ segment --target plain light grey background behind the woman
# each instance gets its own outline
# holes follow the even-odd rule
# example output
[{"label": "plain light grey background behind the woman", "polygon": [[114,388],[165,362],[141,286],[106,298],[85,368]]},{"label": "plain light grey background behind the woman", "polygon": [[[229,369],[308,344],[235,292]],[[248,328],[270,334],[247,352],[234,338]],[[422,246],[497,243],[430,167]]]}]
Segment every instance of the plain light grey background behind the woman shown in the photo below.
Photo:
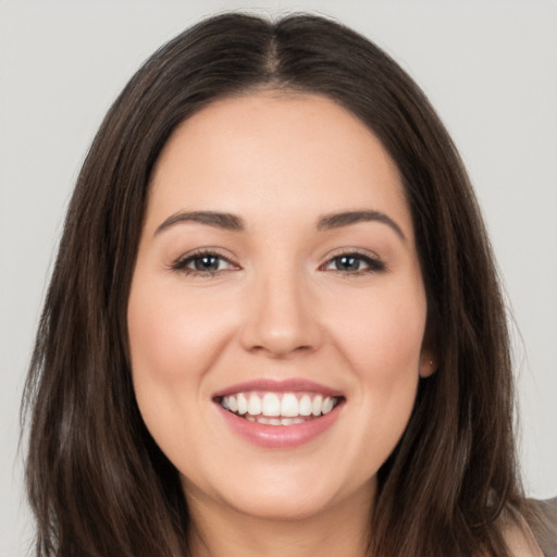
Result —
[{"label": "plain light grey background behind the woman", "polygon": [[0,0],[1,557],[25,555],[30,540],[18,404],[81,161],[156,48],[235,8],[338,17],[393,54],[438,110],[476,187],[517,323],[527,491],[557,495],[555,1]]}]

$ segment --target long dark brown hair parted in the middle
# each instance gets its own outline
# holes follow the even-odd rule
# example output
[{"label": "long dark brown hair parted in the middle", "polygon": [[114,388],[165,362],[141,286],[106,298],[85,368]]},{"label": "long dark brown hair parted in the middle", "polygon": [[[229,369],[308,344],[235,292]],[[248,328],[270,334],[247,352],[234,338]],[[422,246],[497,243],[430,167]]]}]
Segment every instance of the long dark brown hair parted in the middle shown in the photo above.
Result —
[{"label": "long dark brown hair parted in the middle", "polygon": [[36,554],[186,556],[177,471],[134,398],[126,306],[153,164],[174,128],[258,88],[335,100],[403,175],[438,370],[379,472],[377,557],[507,556],[499,517],[525,507],[516,472],[506,315],[480,211],[429,101],[376,46],[313,15],[228,13],[156,52],[106,116],[77,180],[27,379]]}]

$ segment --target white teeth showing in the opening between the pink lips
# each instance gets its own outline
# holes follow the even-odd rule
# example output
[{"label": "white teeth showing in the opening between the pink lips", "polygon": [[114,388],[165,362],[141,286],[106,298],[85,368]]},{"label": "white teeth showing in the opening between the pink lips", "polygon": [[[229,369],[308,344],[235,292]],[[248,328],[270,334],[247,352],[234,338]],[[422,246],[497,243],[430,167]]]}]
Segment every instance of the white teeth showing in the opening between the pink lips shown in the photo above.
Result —
[{"label": "white teeth showing in the opening between the pink lips", "polygon": [[332,412],[344,397],[318,391],[239,391],[215,397],[228,412],[263,425],[297,425]]}]

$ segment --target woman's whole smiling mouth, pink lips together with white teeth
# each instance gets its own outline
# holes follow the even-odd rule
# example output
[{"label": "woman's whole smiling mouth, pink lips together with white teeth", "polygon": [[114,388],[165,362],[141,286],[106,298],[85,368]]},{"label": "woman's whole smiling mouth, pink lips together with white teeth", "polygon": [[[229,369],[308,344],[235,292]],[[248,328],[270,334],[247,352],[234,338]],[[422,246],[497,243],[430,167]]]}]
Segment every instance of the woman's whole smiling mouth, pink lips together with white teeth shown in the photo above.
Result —
[{"label": "woman's whole smiling mouth, pink lips together with white teeth", "polygon": [[256,381],[214,396],[228,425],[265,448],[294,448],[326,431],[344,396],[301,380]]}]

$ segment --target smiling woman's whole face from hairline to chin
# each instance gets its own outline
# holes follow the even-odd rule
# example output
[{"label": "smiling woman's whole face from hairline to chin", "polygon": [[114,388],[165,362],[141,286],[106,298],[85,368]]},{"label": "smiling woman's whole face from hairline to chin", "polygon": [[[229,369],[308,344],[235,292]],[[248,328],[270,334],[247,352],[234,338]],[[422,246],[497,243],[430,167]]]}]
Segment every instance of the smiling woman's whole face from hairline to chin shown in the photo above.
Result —
[{"label": "smiling woman's whole face from hairline to chin", "polygon": [[298,519],[370,503],[433,371],[425,318],[399,173],[349,112],[260,92],[173,134],[128,332],[139,409],[191,505]]}]

